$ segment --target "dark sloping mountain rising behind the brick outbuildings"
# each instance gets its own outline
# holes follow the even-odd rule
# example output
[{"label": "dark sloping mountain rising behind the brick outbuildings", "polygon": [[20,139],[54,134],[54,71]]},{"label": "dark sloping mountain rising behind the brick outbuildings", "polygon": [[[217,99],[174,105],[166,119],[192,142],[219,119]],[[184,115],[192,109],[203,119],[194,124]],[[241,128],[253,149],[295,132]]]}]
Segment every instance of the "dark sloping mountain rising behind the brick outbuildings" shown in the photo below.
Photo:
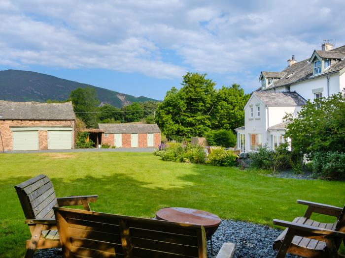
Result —
[{"label": "dark sloping mountain rising behind the brick outbuildings", "polygon": [[158,101],[147,97],[135,97],[117,91],[81,84],[55,76],[21,70],[0,71],[0,100],[46,102],[48,99],[65,100],[72,90],[90,86],[96,89],[98,99],[115,107],[133,102]]}]

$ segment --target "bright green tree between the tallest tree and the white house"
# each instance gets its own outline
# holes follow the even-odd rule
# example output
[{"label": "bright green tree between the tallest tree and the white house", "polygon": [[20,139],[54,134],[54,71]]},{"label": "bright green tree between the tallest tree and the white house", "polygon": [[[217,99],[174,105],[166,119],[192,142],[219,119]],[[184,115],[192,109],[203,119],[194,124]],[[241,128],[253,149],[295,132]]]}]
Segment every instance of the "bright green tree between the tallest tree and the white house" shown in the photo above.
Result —
[{"label": "bright green tree between the tallest tree and the white house", "polygon": [[231,87],[222,86],[217,92],[217,101],[212,110],[212,129],[233,130],[244,124],[243,108],[250,95],[238,84]]}]

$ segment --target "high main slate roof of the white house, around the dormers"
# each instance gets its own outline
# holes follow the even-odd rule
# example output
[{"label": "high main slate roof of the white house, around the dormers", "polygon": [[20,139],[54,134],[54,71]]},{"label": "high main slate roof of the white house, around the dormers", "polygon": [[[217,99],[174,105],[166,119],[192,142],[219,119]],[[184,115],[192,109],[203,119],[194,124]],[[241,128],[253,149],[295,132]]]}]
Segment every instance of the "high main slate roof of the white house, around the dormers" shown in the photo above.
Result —
[{"label": "high main slate roof of the white house, around the dormers", "polygon": [[334,58],[343,60],[334,60],[332,66],[329,69],[325,70],[323,73],[317,76],[313,76],[312,74],[313,63],[309,62],[309,59],[299,61],[282,70],[281,72],[285,73],[285,75],[279,80],[276,80],[273,83],[273,86],[268,86],[264,90],[269,90],[271,88],[279,86],[287,86],[300,81],[309,80],[311,78],[324,76],[329,73],[340,71],[345,67],[345,45],[329,51],[316,50],[316,52],[321,55],[321,58]]}]

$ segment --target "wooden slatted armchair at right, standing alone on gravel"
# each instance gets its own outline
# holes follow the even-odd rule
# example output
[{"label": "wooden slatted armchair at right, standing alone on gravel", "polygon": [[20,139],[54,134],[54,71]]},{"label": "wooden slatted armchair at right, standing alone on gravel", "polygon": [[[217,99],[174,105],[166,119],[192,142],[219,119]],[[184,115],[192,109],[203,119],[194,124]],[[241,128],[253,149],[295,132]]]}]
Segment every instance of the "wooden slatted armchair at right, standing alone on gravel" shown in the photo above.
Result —
[{"label": "wooden slatted armchair at right, standing alone on gravel", "polygon": [[[345,244],[345,206],[343,208],[311,201],[297,200],[308,205],[303,217],[292,222],[273,220],[273,224],[286,227],[276,238],[273,249],[279,250],[277,258],[291,253],[312,258],[338,258],[338,249],[342,241]],[[320,223],[311,220],[311,214],[319,213],[336,217],[334,223]]]}]

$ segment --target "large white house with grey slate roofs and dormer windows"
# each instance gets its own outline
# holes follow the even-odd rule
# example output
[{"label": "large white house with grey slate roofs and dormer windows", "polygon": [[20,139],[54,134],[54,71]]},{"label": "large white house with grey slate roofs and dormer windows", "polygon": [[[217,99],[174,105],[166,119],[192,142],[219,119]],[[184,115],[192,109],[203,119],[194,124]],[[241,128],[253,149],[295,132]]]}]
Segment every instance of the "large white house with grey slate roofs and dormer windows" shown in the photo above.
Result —
[{"label": "large white house with grey slate roofs and dormer windows", "polygon": [[244,107],[244,126],[235,129],[242,152],[265,144],[275,149],[285,141],[286,114],[296,116],[306,100],[328,97],[345,88],[345,45],[333,49],[325,41],[321,49],[300,62],[292,56],[281,72],[261,72],[261,87]]}]

